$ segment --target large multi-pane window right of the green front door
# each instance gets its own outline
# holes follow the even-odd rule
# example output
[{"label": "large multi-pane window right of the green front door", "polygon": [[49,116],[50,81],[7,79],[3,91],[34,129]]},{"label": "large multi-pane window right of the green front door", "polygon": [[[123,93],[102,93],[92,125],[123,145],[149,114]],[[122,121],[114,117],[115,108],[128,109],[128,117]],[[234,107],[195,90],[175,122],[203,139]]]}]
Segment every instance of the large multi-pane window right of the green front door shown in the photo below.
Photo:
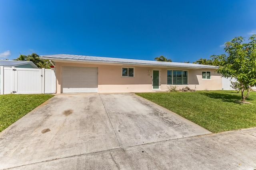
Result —
[{"label": "large multi-pane window right of the green front door", "polygon": [[167,84],[174,84],[174,85],[188,84],[188,71],[167,70]]}]

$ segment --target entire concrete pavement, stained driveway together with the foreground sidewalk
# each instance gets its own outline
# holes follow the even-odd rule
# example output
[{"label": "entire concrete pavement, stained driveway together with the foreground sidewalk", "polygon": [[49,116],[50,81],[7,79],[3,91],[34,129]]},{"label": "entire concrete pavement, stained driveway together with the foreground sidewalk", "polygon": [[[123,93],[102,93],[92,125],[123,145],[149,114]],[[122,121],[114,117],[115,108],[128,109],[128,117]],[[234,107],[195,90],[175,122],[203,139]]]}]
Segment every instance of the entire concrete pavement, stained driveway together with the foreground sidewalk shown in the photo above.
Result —
[{"label": "entire concrete pavement, stained driveway together with the foreground sidewalk", "polygon": [[210,134],[135,94],[57,95],[0,133],[0,169],[254,169],[255,136]]}]

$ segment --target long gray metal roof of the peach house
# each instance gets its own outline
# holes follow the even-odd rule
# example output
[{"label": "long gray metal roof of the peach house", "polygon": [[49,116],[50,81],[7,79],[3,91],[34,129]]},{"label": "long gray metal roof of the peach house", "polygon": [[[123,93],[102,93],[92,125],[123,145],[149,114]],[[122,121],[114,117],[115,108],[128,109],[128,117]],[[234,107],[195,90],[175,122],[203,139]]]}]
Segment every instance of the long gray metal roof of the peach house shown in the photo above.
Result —
[{"label": "long gray metal roof of the peach house", "polygon": [[170,67],[187,67],[187,68],[218,68],[216,66],[193,64],[193,63],[176,63],[176,62],[150,61],[150,60],[137,60],[137,59],[119,59],[119,58],[110,58],[110,57],[94,57],[94,56],[68,55],[68,54],[41,55],[40,59],[83,61],[83,62],[93,62],[93,63],[138,64],[138,65],[148,65],[148,66],[170,66]]}]

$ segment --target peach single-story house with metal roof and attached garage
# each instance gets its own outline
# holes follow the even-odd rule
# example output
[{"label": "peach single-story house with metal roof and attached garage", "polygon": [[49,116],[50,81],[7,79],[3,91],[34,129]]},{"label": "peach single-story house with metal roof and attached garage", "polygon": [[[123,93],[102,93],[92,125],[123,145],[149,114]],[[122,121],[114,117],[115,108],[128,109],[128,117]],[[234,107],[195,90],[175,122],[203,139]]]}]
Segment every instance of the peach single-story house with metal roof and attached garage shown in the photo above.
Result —
[{"label": "peach single-story house with metal roof and attached garage", "polygon": [[57,93],[164,92],[168,85],[222,90],[218,67],[83,55],[42,55],[54,61]]}]

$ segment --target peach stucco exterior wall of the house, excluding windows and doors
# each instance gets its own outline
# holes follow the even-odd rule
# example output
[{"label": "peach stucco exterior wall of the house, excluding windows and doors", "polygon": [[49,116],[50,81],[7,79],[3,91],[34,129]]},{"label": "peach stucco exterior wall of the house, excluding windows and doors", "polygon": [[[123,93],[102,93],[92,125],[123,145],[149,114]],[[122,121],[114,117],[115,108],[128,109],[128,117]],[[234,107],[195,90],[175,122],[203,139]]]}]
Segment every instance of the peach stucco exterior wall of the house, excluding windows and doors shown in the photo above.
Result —
[{"label": "peach stucco exterior wall of the house, excluding windows and doors", "polygon": [[[147,66],[128,65],[107,65],[107,64],[86,64],[86,63],[60,63],[55,61],[57,93],[62,93],[62,66],[97,67],[98,68],[98,92],[159,92],[167,90],[167,70],[188,70],[188,69],[167,69]],[[134,77],[122,77],[122,66],[133,67]],[[152,90],[152,70],[159,70],[160,90]],[[196,90],[221,90],[222,78],[214,73],[216,69],[195,69],[188,70],[188,84],[178,85],[190,87]],[[150,72],[149,72],[150,71]],[[202,80],[202,71],[211,71],[210,80]]]}]

